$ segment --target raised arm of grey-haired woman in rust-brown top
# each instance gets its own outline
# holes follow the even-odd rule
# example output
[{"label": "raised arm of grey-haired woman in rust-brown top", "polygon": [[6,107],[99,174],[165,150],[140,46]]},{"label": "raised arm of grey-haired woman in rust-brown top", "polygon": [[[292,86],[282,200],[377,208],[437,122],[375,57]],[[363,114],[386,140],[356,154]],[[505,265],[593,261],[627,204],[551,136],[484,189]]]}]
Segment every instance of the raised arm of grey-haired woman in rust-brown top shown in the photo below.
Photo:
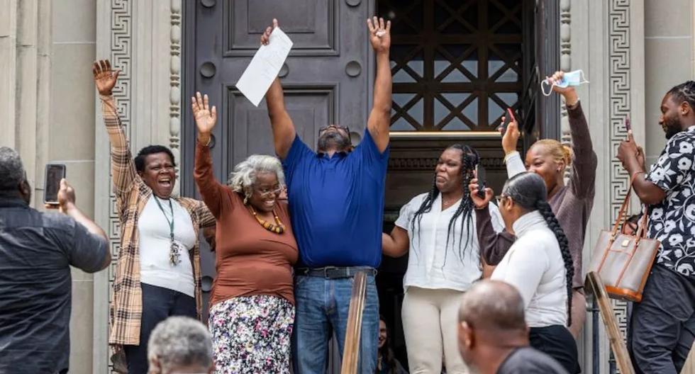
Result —
[{"label": "raised arm of grey-haired woman in rust-brown top", "polygon": [[217,108],[215,106],[210,108],[208,96],[201,96],[200,92],[196,92],[196,96],[191,97],[191,108],[198,128],[194,179],[205,205],[215,217],[219,217],[224,186],[213,175],[212,157],[208,147],[212,138],[212,129],[217,123]]}]

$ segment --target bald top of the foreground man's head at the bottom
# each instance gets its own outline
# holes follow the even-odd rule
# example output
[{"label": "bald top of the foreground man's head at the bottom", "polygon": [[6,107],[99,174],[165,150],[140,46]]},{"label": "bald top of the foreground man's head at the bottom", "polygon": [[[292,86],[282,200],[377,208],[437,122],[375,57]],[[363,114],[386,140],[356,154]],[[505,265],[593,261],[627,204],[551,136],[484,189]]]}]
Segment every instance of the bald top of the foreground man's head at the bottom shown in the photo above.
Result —
[{"label": "bald top of the foreground man's head at the bottom", "polygon": [[491,330],[526,331],[523,300],[516,288],[499,280],[481,280],[463,296],[459,322]]}]

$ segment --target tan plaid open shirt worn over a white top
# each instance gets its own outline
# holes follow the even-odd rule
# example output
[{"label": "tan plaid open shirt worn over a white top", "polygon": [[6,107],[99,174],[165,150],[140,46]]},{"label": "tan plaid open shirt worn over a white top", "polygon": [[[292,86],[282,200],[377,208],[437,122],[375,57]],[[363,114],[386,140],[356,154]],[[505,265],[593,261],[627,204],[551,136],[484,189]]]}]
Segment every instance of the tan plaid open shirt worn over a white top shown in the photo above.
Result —
[{"label": "tan plaid open shirt worn over a white top", "polygon": [[[118,251],[118,265],[113,279],[109,333],[109,344],[113,345],[118,353],[122,345],[140,344],[143,293],[140,287],[138,217],[152,196],[152,189],[135,171],[135,163],[112,96],[101,96],[101,114],[104,116],[106,132],[109,133],[111,142],[111,176],[116,193],[118,220],[121,223],[121,250]],[[200,227],[215,225],[215,217],[202,201],[191,198],[174,198],[174,200],[177,200],[191,215],[196,234],[196,244],[189,251],[189,256],[193,263],[196,310],[200,317],[202,298],[198,233]]]}]

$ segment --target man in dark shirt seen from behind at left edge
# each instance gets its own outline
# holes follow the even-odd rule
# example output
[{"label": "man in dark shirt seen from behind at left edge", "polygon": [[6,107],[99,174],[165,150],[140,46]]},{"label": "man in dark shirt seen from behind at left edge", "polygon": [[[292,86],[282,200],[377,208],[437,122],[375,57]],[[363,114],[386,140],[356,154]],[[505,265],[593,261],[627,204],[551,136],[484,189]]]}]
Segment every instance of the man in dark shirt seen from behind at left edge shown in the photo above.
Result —
[{"label": "man in dark shirt seen from behind at left edge", "polygon": [[94,273],[111,263],[106,234],[60,180],[65,215],[30,208],[19,154],[0,147],[0,373],[67,373],[70,266]]}]

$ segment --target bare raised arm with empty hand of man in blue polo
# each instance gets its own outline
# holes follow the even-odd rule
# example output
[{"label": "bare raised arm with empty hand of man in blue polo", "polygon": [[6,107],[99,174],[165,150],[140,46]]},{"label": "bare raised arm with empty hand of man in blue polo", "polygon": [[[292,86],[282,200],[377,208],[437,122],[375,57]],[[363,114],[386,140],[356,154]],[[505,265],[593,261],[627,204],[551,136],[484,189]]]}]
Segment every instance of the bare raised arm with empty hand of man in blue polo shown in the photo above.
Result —
[{"label": "bare raised arm with empty hand of man in blue polo", "polygon": [[369,41],[377,54],[377,78],[374,80],[374,103],[369,113],[367,129],[372,135],[379,152],[389,146],[389,126],[391,125],[391,21],[384,24],[384,18],[367,19]]}]

